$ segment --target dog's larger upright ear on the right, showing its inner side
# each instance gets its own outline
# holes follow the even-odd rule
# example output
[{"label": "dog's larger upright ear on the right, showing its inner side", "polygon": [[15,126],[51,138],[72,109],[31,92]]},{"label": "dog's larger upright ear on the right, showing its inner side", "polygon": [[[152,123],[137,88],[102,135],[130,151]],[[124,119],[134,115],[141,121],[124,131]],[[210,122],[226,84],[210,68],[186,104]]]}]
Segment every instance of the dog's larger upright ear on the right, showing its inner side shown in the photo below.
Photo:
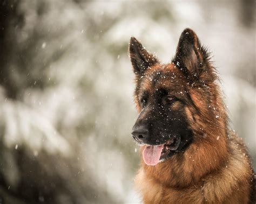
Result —
[{"label": "dog's larger upright ear on the right, showing its inner side", "polygon": [[179,38],[174,64],[193,78],[198,78],[208,67],[209,54],[201,46],[197,34],[191,29],[185,29]]}]

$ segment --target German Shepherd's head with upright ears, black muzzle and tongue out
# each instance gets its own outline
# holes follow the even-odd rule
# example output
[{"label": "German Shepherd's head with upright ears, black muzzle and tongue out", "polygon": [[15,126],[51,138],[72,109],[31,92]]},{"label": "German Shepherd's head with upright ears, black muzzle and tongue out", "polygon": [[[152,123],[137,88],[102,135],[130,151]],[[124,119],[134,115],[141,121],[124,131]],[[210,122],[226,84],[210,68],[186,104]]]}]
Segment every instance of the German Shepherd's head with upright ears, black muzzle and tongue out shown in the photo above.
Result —
[{"label": "German Shepherd's head with upright ears, black muzzle and tongue out", "polygon": [[184,151],[193,142],[195,132],[204,134],[200,130],[203,125],[195,123],[199,123],[200,106],[211,104],[207,104],[207,100],[212,100],[207,89],[216,76],[205,48],[191,29],[181,33],[170,64],[161,64],[133,37],[130,58],[136,75],[134,95],[139,111],[132,137],[145,146],[145,163],[156,165]]}]

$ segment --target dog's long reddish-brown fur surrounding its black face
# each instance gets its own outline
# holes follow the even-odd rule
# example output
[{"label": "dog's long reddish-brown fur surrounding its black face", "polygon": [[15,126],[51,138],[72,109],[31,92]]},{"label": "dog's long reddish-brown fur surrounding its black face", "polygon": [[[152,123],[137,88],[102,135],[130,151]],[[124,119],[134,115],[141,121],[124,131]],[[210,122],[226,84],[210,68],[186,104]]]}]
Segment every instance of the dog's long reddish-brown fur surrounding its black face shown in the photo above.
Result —
[{"label": "dog's long reddish-brown fur surrounding its black face", "polygon": [[[197,57],[203,58],[200,53]],[[208,80],[209,76],[204,73],[200,77],[208,80],[209,96],[197,83],[188,85],[189,81],[173,62],[156,64],[146,70],[146,75],[158,70],[173,72],[179,92],[187,92],[194,105],[185,107],[193,131],[193,142],[187,149],[156,166],[147,166],[142,160],[135,183],[144,203],[254,203],[250,156],[242,140],[228,129],[217,76],[210,61],[207,63],[214,79]],[[162,78],[158,86],[170,87],[172,83]],[[154,92],[150,82],[140,87]],[[137,94],[135,102],[140,112]],[[180,105],[176,102],[173,108],[179,109]]]}]

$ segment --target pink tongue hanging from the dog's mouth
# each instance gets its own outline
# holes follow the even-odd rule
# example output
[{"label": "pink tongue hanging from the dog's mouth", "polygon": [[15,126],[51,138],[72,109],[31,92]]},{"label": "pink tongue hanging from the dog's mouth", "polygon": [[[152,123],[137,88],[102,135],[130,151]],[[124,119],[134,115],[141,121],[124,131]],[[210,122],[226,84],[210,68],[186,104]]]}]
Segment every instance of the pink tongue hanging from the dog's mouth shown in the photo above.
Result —
[{"label": "pink tongue hanging from the dog's mouth", "polygon": [[143,150],[143,160],[146,163],[146,165],[156,165],[160,159],[161,152],[164,148],[164,145],[162,146],[146,146]]}]

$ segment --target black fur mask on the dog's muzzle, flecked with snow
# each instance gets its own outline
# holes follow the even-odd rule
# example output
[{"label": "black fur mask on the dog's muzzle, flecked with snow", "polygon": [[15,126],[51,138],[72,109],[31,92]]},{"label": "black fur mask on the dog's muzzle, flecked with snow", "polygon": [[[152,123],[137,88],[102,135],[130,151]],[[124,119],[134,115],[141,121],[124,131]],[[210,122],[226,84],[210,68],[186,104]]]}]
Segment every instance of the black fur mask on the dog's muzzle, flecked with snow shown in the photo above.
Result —
[{"label": "black fur mask on the dog's muzzle, flecked with snow", "polygon": [[[149,137],[144,143],[149,145],[164,144],[173,136],[181,136],[181,142],[176,151],[169,154],[171,156],[175,152],[183,150],[183,147],[191,142],[192,131],[184,114],[185,103],[181,109],[173,110],[172,104],[164,104],[163,97],[167,94],[166,90],[159,89],[153,94],[148,95],[147,103],[140,104],[143,107],[134,126],[144,125],[149,131]],[[143,94],[140,94],[142,99]],[[142,102],[140,102],[142,103]]]}]

